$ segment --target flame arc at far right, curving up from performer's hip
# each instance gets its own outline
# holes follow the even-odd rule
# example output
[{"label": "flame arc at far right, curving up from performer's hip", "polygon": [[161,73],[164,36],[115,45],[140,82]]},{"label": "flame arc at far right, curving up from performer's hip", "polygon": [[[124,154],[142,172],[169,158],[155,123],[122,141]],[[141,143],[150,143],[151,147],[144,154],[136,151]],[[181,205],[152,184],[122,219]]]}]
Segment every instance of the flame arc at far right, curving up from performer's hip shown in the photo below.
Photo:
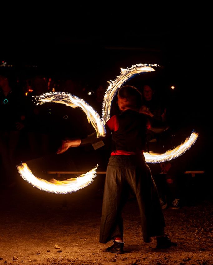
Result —
[{"label": "flame arc at far right, curving up from performer's hip", "polygon": [[150,151],[149,153],[144,153],[146,163],[161,163],[175,159],[176,157],[185,153],[197,140],[198,133],[193,132],[190,137],[186,138],[185,142],[178,145],[172,150],[168,150],[164,154],[158,154]]}]

